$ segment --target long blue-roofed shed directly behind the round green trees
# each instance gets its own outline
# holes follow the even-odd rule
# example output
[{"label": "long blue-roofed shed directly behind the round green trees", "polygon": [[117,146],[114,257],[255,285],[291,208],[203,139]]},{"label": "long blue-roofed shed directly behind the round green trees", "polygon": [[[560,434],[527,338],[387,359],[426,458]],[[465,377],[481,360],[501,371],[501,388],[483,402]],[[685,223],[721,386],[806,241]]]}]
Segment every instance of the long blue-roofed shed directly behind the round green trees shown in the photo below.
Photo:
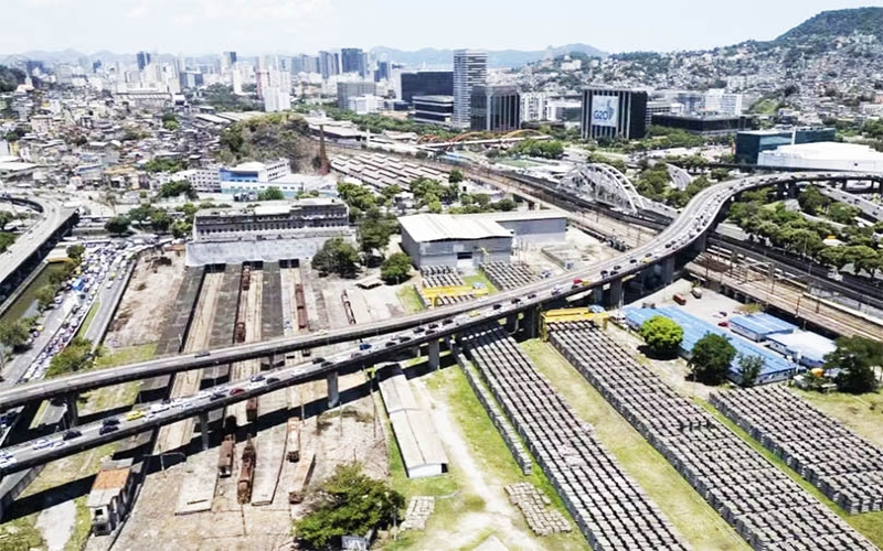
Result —
[{"label": "long blue-roofed shed directly behind the round green trees", "polygon": [[643,322],[656,316],[661,315],[675,322],[683,328],[683,341],[681,342],[681,355],[689,358],[690,350],[693,345],[708,334],[721,335],[736,349],[736,357],[730,366],[730,378],[734,381],[738,380],[738,357],[740,356],[760,356],[764,358],[764,367],[760,370],[760,376],[757,378],[758,383],[776,382],[787,379],[794,371],[796,366],[783,358],[778,354],[769,352],[769,349],[748,343],[738,338],[725,329],[704,322],[687,312],[673,307],[664,306],[659,309],[626,309],[626,323],[631,328],[639,328]]}]

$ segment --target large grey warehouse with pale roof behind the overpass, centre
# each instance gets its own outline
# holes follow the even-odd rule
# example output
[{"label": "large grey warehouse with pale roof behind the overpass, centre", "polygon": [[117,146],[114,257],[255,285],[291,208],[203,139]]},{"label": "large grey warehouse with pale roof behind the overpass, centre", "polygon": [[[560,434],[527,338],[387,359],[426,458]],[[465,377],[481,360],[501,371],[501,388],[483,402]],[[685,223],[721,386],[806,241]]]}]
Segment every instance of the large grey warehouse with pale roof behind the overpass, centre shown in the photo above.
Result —
[{"label": "large grey warehouse with pale roof behind the overpass, centre", "polygon": [[417,214],[398,223],[402,248],[417,268],[509,262],[513,248],[563,242],[567,228],[566,218],[554,210]]}]

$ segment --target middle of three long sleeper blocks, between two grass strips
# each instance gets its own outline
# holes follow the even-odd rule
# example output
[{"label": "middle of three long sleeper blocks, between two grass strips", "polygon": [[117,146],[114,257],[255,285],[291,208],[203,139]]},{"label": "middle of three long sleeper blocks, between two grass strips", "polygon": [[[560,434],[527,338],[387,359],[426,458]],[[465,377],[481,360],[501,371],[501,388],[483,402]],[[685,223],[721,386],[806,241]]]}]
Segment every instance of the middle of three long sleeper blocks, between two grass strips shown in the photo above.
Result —
[{"label": "middle of three long sleeper blocks, between two grass strips", "polygon": [[753,548],[876,549],[591,322],[550,342]]}]

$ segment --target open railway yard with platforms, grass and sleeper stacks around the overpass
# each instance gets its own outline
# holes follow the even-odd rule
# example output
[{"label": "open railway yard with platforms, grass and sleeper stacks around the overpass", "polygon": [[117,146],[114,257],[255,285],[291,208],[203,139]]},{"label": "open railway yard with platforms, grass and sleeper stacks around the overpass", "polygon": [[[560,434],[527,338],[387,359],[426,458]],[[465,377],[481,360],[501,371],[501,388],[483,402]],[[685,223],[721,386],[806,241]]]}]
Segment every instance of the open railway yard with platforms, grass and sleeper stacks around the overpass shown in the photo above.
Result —
[{"label": "open railway yard with platforms, grass and sleeper stacks around the overpass", "polygon": [[[394,318],[413,306],[403,290],[417,309],[480,305],[498,291],[562,276],[562,264],[611,259],[653,235],[599,214],[568,216],[566,246],[555,250],[525,246],[511,263],[427,267],[408,282],[373,289],[295,260],[183,268],[180,255],[146,255],[106,341],[111,356],[145,346],[145,357],[199,356]],[[879,322],[811,295],[799,274],[774,273],[720,247],[698,255],[684,274],[708,290],[702,305],[683,305],[696,316],[735,312],[734,298],[831,333],[880,335]],[[675,287],[689,288],[678,281],[646,296],[653,277],[627,282],[626,303],[669,303]],[[883,451],[869,436],[873,423],[853,426],[785,386],[698,390],[683,360],[637,353],[638,337],[617,315],[584,314],[544,320],[542,338],[518,333],[518,317],[492,321],[454,344],[446,339],[435,358],[427,346],[341,372],[338,400],[325,378],[300,382],[83,452],[50,464],[13,510],[39,511],[49,489],[64,486],[76,508],[51,503],[17,519],[39,517],[32,528],[46,542],[65,530],[73,534],[65,541],[84,542],[76,534],[98,463],[132,458],[143,476],[131,511],[110,536],[88,538],[86,549],[143,549],[146,541],[156,549],[292,549],[291,522],[309,511],[317,484],[359,462],[407,499],[401,526],[379,534],[381,548],[883,545]],[[259,388],[273,369],[322,364],[352,346],[108,387],[88,395],[82,412],[152,419],[213,398],[217,385],[231,383],[231,393]]]}]

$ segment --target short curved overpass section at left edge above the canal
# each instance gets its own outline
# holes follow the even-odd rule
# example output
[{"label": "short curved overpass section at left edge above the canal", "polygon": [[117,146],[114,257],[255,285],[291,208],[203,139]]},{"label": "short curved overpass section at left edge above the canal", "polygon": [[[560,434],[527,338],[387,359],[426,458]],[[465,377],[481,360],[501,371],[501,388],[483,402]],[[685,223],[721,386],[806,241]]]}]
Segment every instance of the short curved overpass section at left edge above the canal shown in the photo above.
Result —
[{"label": "short curved overpass section at left edge above the canal", "polygon": [[10,248],[0,255],[0,300],[6,300],[28,278],[53,247],[77,222],[75,208],[41,197],[21,197],[0,194],[0,201],[40,213],[41,219],[33,228],[19,236]]}]

